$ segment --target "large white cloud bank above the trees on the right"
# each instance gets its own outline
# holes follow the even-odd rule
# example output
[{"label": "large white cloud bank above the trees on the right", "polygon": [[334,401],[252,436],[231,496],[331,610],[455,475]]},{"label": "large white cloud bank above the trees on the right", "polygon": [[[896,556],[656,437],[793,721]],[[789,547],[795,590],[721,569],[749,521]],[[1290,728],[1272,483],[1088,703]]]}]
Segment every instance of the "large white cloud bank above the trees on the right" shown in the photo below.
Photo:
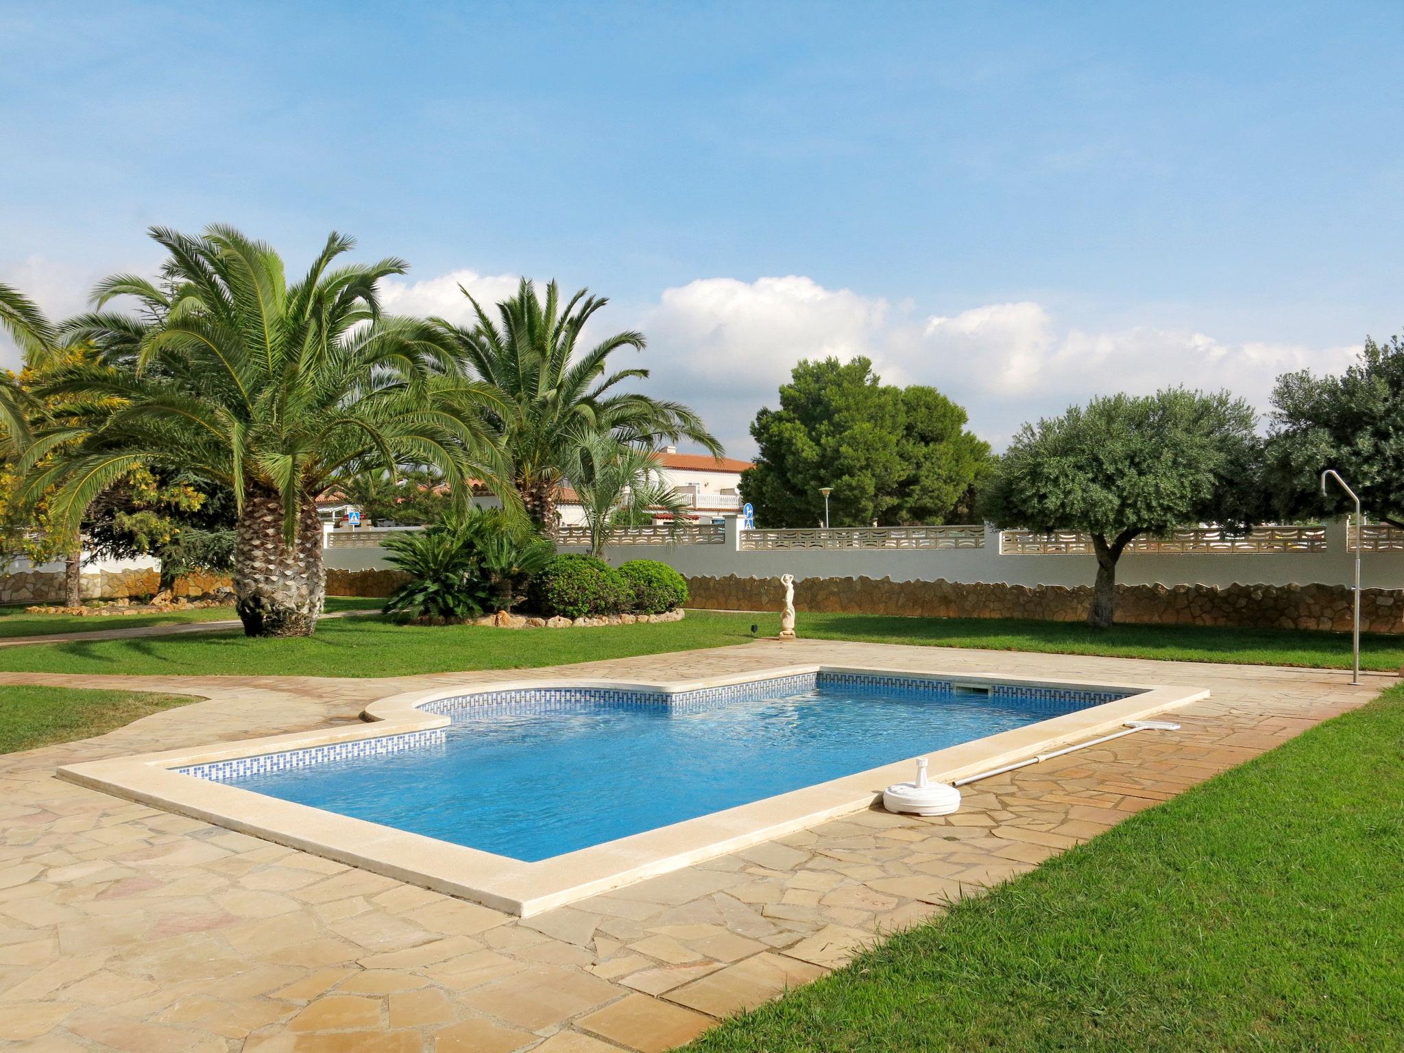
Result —
[{"label": "large white cloud bank above the trees on the right", "polygon": [[804,277],[708,278],[667,289],[643,329],[658,389],[692,402],[737,453],[751,451],[747,424],[761,406],[778,404],[776,388],[800,358],[863,354],[889,382],[935,385],[1000,446],[1026,420],[1113,392],[1227,388],[1266,410],[1280,373],[1339,371],[1356,350],[1074,327],[1029,300],[920,317]]}]

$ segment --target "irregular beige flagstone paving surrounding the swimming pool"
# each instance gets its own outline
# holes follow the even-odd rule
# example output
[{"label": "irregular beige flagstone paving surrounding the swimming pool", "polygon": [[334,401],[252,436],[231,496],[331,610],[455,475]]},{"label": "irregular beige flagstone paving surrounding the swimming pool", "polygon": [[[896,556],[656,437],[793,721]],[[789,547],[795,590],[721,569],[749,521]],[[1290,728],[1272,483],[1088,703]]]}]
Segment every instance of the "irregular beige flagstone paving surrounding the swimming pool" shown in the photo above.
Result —
[{"label": "irregular beige flagstone paving surrounding the swimming pool", "polygon": [[324,680],[0,682],[206,701],[0,757],[0,1042],[24,1050],[665,1050],[841,966],[880,932],[1056,852],[1375,696],[1341,673],[868,643],[762,642],[541,670],[708,677],[882,664],[1207,687],[1141,733],[967,788],[939,819],[865,812],[531,918],[157,812],[56,767],[351,722],[399,691],[501,671]]}]

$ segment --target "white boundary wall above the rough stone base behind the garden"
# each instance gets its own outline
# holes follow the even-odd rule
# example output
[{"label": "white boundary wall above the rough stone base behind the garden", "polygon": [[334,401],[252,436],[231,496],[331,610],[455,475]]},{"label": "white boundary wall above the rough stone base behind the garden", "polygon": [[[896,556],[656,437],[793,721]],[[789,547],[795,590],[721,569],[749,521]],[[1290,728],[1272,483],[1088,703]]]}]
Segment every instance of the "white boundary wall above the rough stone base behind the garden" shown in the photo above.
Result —
[{"label": "white boundary wall above the rough stone base behind the garden", "polygon": [[[1327,524],[1323,552],[1126,553],[1116,569],[1125,585],[1351,585],[1355,553],[1346,548],[1344,521]],[[359,539],[358,539],[359,541]],[[366,538],[369,541],[369,538]],[[563,545],[562,552],[584,552]],[[327,567],[369,570],[389,566],[382,548],[329,548]],[[657,559],[687,577],[869,577],[893,581],[986,583],[1011,585],[1091,585],[1097,560],[1087,555],[1001,555],[1000,532],[986,526],[983,548],[952,549],[782,549],[740,548],[740,524],[727,519],[722,545],[609,545],[605,559]],[[1404,588],[1404,552],[1366,552],[1366,588]]]}]

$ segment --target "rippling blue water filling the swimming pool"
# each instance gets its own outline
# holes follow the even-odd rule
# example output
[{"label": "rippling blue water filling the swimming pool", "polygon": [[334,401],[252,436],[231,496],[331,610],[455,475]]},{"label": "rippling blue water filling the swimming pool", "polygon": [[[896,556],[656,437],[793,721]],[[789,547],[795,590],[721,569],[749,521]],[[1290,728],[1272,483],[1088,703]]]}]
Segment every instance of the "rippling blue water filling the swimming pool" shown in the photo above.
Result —
[{"label": "rippling blue water filling the swimming pool", "polygon": [[[543,688],[431,703],[453,723],[373,740],[393,753],[185,771],[535,862],[1112,698],[844,674],[673,696]],[[257,771],[274,758],[302,767]]]}]

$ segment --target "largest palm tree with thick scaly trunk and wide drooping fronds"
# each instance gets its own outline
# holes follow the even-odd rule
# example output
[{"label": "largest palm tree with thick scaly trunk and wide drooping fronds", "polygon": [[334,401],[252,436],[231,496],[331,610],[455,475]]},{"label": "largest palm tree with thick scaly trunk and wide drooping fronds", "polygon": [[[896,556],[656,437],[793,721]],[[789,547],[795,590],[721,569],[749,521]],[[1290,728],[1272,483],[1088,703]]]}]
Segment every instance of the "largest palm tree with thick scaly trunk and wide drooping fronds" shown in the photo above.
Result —
[{"label": "largest palm tree with thick scaly trunk and wide drooping fronds", "polygon": [[[28,490],[76,521],[138,465],[187,468],[227,484],[237,504],[234,594],[250,636],[305,636],[326,571],[316,498],[344,473],[432,465],[455,489],[501,477],[483,427],[493,402],[428,338],[380,316],[376,284],[406,264],[333,268],[352,240],[333,233],[288,284],[279,256],[227,226],[199,236],[156,229],[170,254],[160,285],[112,275],[94,313],[63,326],[97,359],[56,371],[41,392],[77,396],[73,424],[42,430]],[[104,310],[133,296],[138,314]],[[91,409],[93,396],[110,400]]]}]

